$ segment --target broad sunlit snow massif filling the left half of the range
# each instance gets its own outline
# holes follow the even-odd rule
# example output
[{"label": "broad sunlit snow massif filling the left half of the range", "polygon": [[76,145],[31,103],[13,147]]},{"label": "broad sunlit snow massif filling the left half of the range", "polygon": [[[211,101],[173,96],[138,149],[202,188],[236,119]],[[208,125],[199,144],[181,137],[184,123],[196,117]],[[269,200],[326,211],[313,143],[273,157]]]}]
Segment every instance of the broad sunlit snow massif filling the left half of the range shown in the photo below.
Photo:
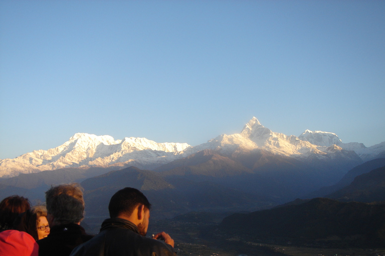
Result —
[{"label": "broad sunlit snow massif filling the left half of the range", "polygon": [[138,166],[159,165],[178,158],[177,154],[188,146],[187,143],[157,143],[138,137],[115,140],[109,135],[76,133],[58,147],[0,160],[0,177],[82,165],[107,166],[124,162]]}]

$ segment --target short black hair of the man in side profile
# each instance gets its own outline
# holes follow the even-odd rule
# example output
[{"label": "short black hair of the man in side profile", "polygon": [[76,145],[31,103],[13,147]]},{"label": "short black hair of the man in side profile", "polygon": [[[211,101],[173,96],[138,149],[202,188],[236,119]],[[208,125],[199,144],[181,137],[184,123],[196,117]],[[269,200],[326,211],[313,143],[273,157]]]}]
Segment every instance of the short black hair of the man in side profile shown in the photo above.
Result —
[{"label": "short black hair of the man in side profile", "polygon": [[110,217],[117,217],[120,213],[131,215],[138,204],[143,204],[148,210],[151,207],[146,196],[138,189],[132,187],[120,189],[111,197],[108,205]]}]

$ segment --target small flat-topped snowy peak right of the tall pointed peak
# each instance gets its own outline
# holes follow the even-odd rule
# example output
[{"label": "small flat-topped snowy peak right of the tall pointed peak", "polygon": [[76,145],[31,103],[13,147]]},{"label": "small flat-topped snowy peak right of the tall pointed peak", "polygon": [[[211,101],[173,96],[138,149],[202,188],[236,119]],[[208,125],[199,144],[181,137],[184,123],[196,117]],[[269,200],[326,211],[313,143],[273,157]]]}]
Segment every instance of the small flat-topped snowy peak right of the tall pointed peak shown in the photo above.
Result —
[{"label": "small flat-topped snowy peak right of the tall pointed peak", "polygon": [[304,141],[309,141],[310,143],[318,146],[331,146],[333,144],[342,144],[341,139],[339,139],[339,137],[335,133],[320,130],[305,130],[301,135],[298,136],[298,138]]}]

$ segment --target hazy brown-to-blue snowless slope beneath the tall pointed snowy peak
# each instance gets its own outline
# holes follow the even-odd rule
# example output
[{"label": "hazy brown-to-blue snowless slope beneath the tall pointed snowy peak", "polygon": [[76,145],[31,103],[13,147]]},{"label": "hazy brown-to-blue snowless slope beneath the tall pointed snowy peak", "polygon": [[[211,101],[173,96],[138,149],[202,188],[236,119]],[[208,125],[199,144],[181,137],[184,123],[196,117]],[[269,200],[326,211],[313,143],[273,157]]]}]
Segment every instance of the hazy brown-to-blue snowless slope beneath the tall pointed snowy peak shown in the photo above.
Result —
[{"label": "hazy brown-to-blue snowless slope beneath the tall pointed snowy peak", "polygon": [[166,179],[216,182],[282,203],[337,182],[356,164],[341,159],[304,162],[259,148],[232,154],[205,149],[154,170]]}]

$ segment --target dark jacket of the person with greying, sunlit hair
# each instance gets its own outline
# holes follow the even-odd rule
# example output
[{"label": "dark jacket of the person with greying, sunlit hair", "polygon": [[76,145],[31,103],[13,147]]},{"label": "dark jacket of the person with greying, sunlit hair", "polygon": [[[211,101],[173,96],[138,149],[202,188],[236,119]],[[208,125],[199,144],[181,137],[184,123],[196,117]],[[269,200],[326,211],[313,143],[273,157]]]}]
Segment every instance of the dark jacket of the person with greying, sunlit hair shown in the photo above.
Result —
[{"label": "dark jacket of the person with greying, sunlit hair", "polygon": [[78,224],[53,226],[46,238],[37,240],[39,256],[69,256],[73,248],[92,237]]}]

